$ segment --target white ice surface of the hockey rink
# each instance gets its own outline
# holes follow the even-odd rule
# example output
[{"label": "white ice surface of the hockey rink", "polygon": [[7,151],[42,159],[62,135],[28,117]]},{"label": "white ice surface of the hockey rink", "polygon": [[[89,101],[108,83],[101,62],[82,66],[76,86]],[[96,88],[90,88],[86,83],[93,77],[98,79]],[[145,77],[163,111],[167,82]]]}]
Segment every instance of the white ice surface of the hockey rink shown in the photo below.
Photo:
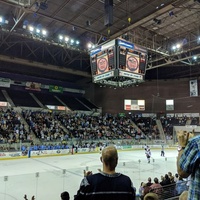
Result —
[{"label": "white ice surface of the hockey rink", "polygon": [[[160,149],[152,149],[151,163],[147,163],[144,150],[119,151],[116,171],[128,175],[137,189],[147,178],[158,177],[171,171],[176,173],[177,150],[166,149],[165,157]],[[26,158],[0,161],[0,199],[60,199],[60,193],[68,191],[70,199],[76,194],[83,170],[98,173],[102,168],[100,153],[75,154],[66,156]]]}]

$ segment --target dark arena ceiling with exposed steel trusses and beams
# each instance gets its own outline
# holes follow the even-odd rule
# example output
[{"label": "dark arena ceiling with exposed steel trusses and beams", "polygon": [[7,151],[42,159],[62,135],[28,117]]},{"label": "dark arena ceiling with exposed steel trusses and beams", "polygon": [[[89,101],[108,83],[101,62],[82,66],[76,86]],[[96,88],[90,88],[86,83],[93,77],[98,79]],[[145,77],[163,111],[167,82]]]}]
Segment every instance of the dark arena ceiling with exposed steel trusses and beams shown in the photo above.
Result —
[{"label": "dark arena ceiling with exposed steel trusses and beams", "polygon": [[[146,79],[200,75],[200,0],[113,0],[109,25],[104,5],[105,0],[0,0],[1,72],[90,82],[87,43],[122,37],[148,49]],[[33,34],[30,25],[47,35]],[[59,34],[80,45],[59,42]]]}]

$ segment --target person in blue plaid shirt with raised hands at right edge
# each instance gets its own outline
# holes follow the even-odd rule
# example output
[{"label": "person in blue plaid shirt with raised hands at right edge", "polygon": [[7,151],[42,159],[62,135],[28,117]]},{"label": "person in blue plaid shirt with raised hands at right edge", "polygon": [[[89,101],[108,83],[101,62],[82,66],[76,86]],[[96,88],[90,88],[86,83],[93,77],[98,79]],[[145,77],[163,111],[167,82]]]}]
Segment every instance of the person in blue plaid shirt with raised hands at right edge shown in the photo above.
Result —
[{"label": "person in blue plaid shirt with raised hands at right edge", "polygon": [[184,131],[177,136],[181,146],[177,158],[178,174],[182,178],[191,175],[188,200],[200,200],[200,135],[193,137],[193,133]]}]

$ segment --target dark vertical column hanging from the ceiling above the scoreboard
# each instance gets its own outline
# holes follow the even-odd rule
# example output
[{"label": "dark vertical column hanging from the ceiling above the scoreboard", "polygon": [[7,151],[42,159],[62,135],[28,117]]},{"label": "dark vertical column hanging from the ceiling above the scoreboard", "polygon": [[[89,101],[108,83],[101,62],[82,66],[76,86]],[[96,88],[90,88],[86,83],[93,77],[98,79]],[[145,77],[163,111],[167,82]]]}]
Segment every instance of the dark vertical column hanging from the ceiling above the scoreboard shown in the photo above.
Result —
[{"label": "dark vertical column hanging from the ceiling above the scoreboard", "polygon": [[105,0],[104,2],[105,16],[104,25],[113,25],[113,0]]}]

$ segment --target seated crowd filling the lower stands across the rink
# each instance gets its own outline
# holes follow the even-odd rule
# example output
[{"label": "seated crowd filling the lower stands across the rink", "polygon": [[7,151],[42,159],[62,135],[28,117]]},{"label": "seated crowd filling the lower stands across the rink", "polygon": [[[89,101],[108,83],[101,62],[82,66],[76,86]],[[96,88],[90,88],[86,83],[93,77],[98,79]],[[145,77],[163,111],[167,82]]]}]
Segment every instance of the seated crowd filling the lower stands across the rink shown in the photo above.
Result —
[{"label": "seated crowd filling the lower stands across the rink", "polygon": [[[33,132],[41,142],[62,143],[75,138],[81,140],[134,140],[160,139],[156,116],[140,115],[99,115],[84,113],[58,113],[24,110],[18,113],[13,109],[0,110],[0,143],[32,141]],[[28,124],[25,129],[21,117]],[[166,139],[173,139],[173,126],[185,125],[187,117],[161,117],[160,121]],[[191,124],[198,124],[199,118],[190,118]]]}]

